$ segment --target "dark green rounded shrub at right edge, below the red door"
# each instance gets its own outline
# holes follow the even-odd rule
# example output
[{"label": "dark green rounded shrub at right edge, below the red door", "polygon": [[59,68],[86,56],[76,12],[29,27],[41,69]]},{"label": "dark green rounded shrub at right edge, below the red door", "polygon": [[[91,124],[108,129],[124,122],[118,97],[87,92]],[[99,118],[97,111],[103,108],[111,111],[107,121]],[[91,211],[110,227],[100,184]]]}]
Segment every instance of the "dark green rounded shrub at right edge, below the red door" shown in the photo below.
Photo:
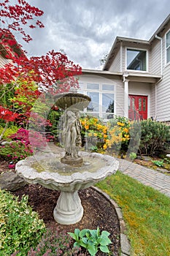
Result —
[{"label": "dark green rounded shrub at right edge, below the red door", "polygon": [[[139,143],[139,154],[152,156],[158,151],[169,148],[170,129],[169,126],[162,122],[152,121],[151,119],[143,120],[140,123],[134,122],[133,126],[140,124],[140,135],[134,136],[134,144]],[[135,129],[134,129],[135,130]]]}]

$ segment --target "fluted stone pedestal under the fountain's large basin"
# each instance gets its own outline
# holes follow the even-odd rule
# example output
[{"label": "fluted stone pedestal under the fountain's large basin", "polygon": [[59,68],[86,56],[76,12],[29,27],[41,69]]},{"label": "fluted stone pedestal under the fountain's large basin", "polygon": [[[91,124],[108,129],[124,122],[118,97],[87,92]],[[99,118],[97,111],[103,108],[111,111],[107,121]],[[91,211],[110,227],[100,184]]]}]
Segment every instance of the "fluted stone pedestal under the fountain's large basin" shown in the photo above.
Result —
[{"label": "fluted stone pedestal under the fountain's large basin", "polygon": [[63,225],[72,225],[80,222],[83,216],[83,208],[77,191],[61,191],[53,216],[56,222]]}]

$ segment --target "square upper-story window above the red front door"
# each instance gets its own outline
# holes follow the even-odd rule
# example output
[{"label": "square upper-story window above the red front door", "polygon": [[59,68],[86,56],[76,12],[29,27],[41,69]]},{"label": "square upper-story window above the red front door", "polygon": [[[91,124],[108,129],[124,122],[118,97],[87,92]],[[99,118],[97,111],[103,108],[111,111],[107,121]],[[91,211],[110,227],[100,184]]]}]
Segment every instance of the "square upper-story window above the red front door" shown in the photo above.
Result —
[{"label": "square upper-story window above the red front door", "polygon": [[128,48],[127,69],[147,71],[147,50]]}]

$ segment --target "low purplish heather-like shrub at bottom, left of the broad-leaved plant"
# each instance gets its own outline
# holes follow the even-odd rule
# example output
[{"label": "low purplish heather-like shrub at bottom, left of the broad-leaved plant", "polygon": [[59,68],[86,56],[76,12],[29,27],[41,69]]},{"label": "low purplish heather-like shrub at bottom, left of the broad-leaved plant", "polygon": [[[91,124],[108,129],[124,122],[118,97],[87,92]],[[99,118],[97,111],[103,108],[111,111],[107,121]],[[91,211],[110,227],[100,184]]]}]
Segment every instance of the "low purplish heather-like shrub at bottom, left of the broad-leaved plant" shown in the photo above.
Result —
[{"label": "low purplish heather-like shrub at bottom, left of the broad-leaved plant", "polygon": [[72,238],[59,230],[47,230],[35,249],[31,248],[28,256],[76,256],[85,255],[81,249],[72,248]]}]

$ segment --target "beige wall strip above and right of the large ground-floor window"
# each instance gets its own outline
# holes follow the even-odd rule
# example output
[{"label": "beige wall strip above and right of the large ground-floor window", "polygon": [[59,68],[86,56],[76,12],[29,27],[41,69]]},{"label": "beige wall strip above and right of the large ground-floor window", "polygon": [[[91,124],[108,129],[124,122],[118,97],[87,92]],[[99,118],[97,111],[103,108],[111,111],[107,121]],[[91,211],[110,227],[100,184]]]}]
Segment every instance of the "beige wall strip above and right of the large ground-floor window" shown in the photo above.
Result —
[{"label": "beige wall strip above and right of the large ground-floor window", "polygon": [[122,80],[108,79],[99,75],[81,75],[79,79],[80,83],[102,83],[102,84],[112,84],[115,86],[115,115],[124,115],[124,88]]}]

